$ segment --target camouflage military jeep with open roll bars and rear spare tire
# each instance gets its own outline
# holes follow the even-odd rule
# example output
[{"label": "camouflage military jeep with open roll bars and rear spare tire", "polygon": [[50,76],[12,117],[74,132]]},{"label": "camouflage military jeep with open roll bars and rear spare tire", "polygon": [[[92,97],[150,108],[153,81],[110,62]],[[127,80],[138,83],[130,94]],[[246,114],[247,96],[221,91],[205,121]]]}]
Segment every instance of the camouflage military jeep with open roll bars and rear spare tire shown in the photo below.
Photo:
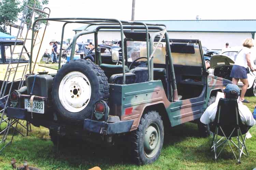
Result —
[{"label": "camouflage military jeep with open roll bars and rear spare tire", "polygon": [[[97,42],[98,30],[104,28],[120,26],[85,31],[73,42],[88,33],[95,33]],[[118,136],[128,136],[134,161],[154,162],[163,146],[164,126],[199,123],[217,91],[231,82],[208,74],[200,40],[169,39],[160,27],[148,29],[162,31],[124,32],[124,65],[102,64],[97,43],[95,63],[72,60],[73,44],[71,61],[56,75],[27,75],[26,94],[11,94],[7,116],[48,128],[55,145],[72,138],[113,143]],[[113,62],[118,59],[118,51],[112,51]],[[205,126],[199,129],[207,133]]]}]

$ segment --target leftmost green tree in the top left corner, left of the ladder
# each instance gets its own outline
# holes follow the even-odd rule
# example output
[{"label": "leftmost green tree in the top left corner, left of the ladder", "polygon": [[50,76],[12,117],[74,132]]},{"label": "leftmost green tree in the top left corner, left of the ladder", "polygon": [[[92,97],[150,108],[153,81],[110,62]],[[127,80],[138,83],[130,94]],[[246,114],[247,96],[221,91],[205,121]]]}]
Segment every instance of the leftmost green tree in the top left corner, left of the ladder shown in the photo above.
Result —
[{"label": "leftmost green tree in the top left corner, left of the ladder", "polygon": [[16,22],[20,12],[20,1],[0,0],[0,32],[6,33],[5,22]]}]

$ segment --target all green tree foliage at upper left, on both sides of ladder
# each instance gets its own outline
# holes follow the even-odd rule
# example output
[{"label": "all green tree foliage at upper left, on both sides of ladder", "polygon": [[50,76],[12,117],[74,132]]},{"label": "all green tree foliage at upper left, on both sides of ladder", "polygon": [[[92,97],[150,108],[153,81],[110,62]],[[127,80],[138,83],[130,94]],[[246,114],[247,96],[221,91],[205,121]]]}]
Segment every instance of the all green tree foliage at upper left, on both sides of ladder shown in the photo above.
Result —
[{"label": "all green tree foliage at upper left, on both sides of ladder", "polygon": [[[48,0],[35,0],[36,5],[35,8],[39,10],[43,10],[43,5],[48,4]],[[18,19],[18,15],[22,15],[25,6],[26,6],[27,0],[0,0],[0,31],[6,32],[5,22],[16,22]],[[34,1],[28,0],[28,6],[33,7]],[[30,16],[31,16],[32,10],[28,10],[28,15],[26,17],[26,22],[29,23]],[[34,13],[35,16],[39,15],[39,12]],[[41,17],[45,17],[44,15],[41,15]]]}]

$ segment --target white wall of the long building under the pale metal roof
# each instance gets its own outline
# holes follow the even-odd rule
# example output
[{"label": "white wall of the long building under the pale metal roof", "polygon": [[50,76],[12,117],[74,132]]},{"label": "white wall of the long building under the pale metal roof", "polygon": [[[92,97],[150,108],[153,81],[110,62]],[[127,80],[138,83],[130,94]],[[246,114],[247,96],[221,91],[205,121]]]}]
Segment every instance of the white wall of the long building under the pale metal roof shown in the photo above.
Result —
[{"label": "white wall of the long building under the pale metal roof", "polygon": [[[222,49],[228,42],[229,46],[241,46],[245,38],[252,38],[252,33],[222,33],[222,32],[168,32],[170,39],[199,39],[202,46],[208,49]],[[94,40],[94,34],[81,36],[78,42],[87,42],[87,39]],[[102,40],[112,41],[120,40],[120,32],[118,31],[101,31],[98,33],[98,42],[102,44]]]}]

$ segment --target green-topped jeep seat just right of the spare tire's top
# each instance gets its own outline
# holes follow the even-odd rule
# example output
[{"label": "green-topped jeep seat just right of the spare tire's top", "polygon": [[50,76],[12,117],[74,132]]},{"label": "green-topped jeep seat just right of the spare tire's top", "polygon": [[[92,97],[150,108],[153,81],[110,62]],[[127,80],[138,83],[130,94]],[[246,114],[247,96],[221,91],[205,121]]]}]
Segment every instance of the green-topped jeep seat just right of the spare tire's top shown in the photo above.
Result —
[{"label": "green-topped jeep seat just right of the spare tire's top", "polygon": [[[104,71],[108,80],[110,79],[111,75],[113,75],[113,74],[123,73],[122,65],[101,64],[100,68]],[[129,69],[127,66],[125,66],[125,72],[129,72]]]}]

